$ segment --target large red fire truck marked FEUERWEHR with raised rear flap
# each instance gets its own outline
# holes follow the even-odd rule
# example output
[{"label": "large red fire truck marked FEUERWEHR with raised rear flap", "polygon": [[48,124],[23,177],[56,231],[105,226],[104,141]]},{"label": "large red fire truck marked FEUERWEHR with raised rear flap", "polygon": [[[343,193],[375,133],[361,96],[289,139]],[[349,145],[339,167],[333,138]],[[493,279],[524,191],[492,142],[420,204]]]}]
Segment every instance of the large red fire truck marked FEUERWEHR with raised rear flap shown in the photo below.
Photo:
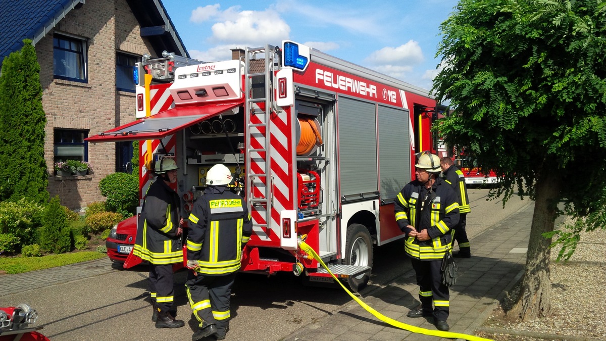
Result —
[{"label": "large red fire truck marked FEUERWEHR with raised rear flap", "polygon": [[[153,161],[174,156],[184,217],[207,170],[224,163],[253,219],[242,271],[331,281],[298,249],[306,238],[331,272],[361,289],[373,245],[403,237],[393,199],[414,177],[415,153],[435,152],[435,100],[292,41],[232,51],[232,60],[219,62],[144,57],[135,70],[141,120],[87,140],[141,140],[141,203]],[[110,258],[124,261],[135,233],[134,217],[119,224]]]}]

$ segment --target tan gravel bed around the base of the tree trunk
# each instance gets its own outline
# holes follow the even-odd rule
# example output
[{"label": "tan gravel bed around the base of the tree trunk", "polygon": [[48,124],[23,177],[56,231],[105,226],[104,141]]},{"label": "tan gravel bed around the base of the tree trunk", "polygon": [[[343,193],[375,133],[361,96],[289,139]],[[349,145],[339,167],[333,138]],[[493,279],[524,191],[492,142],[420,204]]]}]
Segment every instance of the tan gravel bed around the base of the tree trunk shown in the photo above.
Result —
[{"label": "tan gravel bed around the base of the tree trunk", "polygon": [[556,262],[558,251],[551,251],[551,316],[530,322],[505,317],[517,298],[516,285],[478,336],[499,341],[606,340],[606,231],[582,234],[566,263]]}]

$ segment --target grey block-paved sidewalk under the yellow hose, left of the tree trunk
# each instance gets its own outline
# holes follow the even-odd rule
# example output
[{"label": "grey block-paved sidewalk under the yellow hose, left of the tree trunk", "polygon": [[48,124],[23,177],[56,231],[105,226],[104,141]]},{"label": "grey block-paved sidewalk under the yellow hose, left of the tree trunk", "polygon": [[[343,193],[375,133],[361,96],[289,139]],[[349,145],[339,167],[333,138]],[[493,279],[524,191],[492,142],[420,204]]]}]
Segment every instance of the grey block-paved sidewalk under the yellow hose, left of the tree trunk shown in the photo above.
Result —
[{"label": "grey block-paved sidewalk under the yellow hose, left of the tree trunk", "polygon": [[[457,258],[459,277],[450,288],[450,331],[473,335],[496,308],[503,292],[521,277],[534,204],[528,204],[471,240],[471,258]],[[456,248],[455,248],[456,249]],[[415,272],[408,271],[361,299],[391,319],[436,330],[432,320],[406,316],[419,305]],[[298,329],[284,340],[439,340],[413,334],[376,319],[355,301],[325,319]],[[445,339],[447,340],[447,339]]]}]

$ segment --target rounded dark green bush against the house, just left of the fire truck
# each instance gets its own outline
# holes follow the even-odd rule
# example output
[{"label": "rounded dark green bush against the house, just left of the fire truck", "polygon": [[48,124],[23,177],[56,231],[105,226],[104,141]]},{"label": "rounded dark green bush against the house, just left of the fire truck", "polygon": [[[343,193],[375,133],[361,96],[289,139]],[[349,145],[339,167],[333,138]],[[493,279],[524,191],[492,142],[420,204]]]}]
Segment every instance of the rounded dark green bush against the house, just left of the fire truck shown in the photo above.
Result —
[{"label": "rounded dark green bush against the house, just left of the fire truck", "polygon": [[128,173],[113,173],[99,181],[101,194],[107,197],[108,211],[132,217],[139,204],[139,178]]}]

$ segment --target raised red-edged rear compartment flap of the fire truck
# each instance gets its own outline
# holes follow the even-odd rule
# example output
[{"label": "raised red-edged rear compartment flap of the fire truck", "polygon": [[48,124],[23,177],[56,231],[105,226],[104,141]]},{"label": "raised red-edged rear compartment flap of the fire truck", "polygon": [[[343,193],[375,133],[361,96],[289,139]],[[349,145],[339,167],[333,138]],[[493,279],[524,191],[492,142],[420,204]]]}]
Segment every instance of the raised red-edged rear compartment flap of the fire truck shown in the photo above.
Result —
[{"label": "raised red-edged rear compartment flap of the fire truck", "polygon": [[227,110],[233,110],[242,105],[242,101],[208,104],[205,106],[174,107],[153,116],[141,118],[124,126],[116,127],[107,132],[93,135],[85,140],[88,142],[116,142],[134,140],[159,140],[173,135],[181,129],[208,120]]}]

